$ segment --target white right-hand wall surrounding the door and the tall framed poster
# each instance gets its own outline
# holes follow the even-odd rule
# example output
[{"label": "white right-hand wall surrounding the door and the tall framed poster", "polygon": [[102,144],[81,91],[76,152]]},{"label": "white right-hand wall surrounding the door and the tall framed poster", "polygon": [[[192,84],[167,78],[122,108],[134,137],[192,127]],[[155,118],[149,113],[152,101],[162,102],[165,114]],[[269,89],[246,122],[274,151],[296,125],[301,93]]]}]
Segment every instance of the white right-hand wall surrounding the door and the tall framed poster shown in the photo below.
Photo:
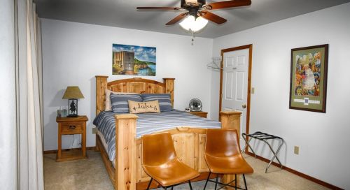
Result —
[{"label": "white right-hand wall surrounding the door and the tall framed poster", "polygon": [[[250,132],[281,136],[283,165],[343,189],[350,189],[349,18],[346,3],[215,38],[213,47],[218,57],[222,49],[253,44]],[[327,43],[326,113],[290,110],[290,50]],[[217,118],[220,73],[212,72],[211,78],[211,118]],[[258,155],[272,158],[265,142],[252,145]],[[293,154],[294,146],[300,147],[299,155]]]}]

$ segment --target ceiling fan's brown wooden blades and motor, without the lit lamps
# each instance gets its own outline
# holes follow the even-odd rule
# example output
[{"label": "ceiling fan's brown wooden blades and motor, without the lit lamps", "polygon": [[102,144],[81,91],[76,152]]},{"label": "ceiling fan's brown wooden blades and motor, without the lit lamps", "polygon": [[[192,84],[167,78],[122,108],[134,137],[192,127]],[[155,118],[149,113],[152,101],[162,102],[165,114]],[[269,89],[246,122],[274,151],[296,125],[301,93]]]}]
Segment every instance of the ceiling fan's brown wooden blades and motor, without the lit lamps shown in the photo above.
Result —
[{"label": "ceiling fan's brown wooden blades and motor, without the lit lamps", "polygon": [[188,10],[187,13],[181,13],[179,16],[175,17],[165,25],[176,24],[176,22],[179,22],[187,15],[193,16],[194,18],[203,17],[207,20],[215,22],[216,24],[223,24],[228,20],[225,20],[225,18],[219,17],[214,13],[210,13],[207,10],[251,5],[251,0],[222,1],[208,4],[205,1],[206,0],[181,0],[181,7],[137,7],[137,9]]}]

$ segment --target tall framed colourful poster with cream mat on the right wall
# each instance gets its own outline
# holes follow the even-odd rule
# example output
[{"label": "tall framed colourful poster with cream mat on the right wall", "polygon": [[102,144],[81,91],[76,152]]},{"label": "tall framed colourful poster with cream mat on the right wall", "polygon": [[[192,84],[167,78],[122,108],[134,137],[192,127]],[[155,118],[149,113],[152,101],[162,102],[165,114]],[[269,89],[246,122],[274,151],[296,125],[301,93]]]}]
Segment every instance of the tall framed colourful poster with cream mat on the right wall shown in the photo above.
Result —
[{"label": "tall framed colourful poster with cream mat on the right wall", "polygon": [[328,44],[292,49],[289,109],[325,113],[327,75]]}]

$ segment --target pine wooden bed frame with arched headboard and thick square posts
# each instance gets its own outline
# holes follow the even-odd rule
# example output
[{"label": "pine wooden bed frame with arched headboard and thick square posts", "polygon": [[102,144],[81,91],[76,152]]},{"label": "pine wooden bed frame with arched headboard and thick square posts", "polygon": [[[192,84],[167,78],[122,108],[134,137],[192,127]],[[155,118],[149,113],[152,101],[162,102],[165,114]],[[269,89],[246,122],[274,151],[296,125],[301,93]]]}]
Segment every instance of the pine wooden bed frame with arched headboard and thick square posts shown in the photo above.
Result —
[{"label": "pine wooden bed frame with arched headboard and thick square posts", "polygon": [[[172,94],[174,108],[174,78],[163,78],[164,83],[141,78],[131,78],[107,82],[108,76],[96,76],[96,115],[104,110],[105,89],[113,92],[134,92],[139,94]],[[241,112],[220,112],[222,129],[237,129],[239,133]],[[114,115],[116,117],[116,168],[106,154],[101,140],[96,134],[96,151],[101,153],[111,182],[117,190],[147,189],[151,180],[141,166],[141,139],[136,139],[137,115]],[[188,126],[166,130],[172,133],[176,154],[179,159],[200,173],[191,181],[207,180],[209,168],[204,160],[204,146],[207,129]],[[164,132],[164,131],[160,131]],[[160,133],[157,132],[157,133]],[[211,178],[216,175],[212,174]],[[220,175],[222,182],[235,180],[235,175]],[[239,184],[239,177],[237,177]],[[150,189],[161,187],[153,180]]]}]

